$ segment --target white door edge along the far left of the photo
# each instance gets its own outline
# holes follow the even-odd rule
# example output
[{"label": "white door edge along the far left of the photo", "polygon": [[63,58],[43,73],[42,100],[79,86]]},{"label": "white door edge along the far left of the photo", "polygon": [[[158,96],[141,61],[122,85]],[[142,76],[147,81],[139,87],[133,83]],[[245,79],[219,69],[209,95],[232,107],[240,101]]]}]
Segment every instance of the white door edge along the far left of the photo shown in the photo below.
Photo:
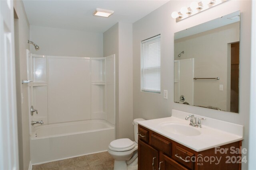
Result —
[{"label": "white door edge along the far left of the photo", "polygon": [[0,1],[0,169],[19,169],[14,6]]}]

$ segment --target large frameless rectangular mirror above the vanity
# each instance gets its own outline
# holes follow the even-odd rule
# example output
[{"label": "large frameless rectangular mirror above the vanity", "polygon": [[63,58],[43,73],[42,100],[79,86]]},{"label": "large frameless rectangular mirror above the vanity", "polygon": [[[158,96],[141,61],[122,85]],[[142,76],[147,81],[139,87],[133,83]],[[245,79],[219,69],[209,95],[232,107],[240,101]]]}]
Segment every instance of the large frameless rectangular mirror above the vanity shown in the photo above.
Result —
[{"label": "large frameless rectangular mirror above the vanity", "polygon": [[240,11],[174,33],[174,102],[238,113]]}]

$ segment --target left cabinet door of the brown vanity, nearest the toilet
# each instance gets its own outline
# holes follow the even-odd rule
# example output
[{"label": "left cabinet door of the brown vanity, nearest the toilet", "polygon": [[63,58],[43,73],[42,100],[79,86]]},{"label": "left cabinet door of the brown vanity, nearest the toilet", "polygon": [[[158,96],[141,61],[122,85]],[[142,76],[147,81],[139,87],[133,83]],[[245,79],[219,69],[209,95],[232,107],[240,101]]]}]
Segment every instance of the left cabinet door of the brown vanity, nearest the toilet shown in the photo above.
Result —
[{"label": "left cabinet door of the brown vanity, nearest the toilet", "polygon": [[138,140],[138,170],[158,170],[158,151]]}]

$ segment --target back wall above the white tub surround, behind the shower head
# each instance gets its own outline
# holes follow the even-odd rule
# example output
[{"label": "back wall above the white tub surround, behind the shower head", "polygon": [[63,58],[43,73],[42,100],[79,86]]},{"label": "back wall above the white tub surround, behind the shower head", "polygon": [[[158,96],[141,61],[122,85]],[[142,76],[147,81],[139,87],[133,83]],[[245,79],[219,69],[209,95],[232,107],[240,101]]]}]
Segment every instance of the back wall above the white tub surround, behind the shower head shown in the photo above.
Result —
[{"label": "back wall above the white tub surround, behind the shower head", "polygon": [[31,53],[70,57],[103,57],[103,34],[30,25]]}]

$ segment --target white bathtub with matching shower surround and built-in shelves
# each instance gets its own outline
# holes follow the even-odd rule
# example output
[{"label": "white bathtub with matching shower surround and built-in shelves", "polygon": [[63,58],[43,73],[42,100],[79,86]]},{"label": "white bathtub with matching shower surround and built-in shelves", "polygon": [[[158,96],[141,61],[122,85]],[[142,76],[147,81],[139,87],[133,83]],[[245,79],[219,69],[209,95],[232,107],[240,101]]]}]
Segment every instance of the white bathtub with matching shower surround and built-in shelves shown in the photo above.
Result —
[{"label": "white bathtub with matching shower surround and built-in shelves", "polygon": [[32,164],[106,151],[115,139],[115,56],[27,56]]}]

